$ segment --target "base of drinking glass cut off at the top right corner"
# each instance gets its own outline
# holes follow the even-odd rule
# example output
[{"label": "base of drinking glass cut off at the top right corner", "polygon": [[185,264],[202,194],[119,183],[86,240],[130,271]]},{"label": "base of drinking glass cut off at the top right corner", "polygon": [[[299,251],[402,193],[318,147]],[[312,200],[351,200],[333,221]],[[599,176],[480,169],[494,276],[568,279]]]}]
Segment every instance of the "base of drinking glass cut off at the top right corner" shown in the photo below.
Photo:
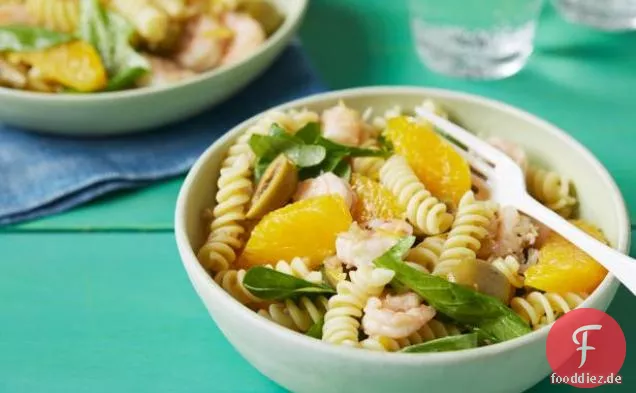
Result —
[{"label": "base of drinking glass cut off at the top right corner", "polygon": [[567,20],[601,30],[636,29],[636,0],[553,0]]}]

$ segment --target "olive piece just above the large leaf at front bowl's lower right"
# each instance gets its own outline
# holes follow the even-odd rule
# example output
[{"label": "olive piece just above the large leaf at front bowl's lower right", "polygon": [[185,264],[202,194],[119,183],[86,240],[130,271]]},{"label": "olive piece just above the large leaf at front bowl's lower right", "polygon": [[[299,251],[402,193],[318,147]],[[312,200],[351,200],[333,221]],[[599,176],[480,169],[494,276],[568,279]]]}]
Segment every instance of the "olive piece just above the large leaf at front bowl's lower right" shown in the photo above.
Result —
[{"label": "olive piece just above the large leaf at front bowl's lower right", "polygon": [[449,281],[463,284],[483,294],[494,296],[508,304],[514,288],[499,270],[488,262],[466,260],[454,266]]}]

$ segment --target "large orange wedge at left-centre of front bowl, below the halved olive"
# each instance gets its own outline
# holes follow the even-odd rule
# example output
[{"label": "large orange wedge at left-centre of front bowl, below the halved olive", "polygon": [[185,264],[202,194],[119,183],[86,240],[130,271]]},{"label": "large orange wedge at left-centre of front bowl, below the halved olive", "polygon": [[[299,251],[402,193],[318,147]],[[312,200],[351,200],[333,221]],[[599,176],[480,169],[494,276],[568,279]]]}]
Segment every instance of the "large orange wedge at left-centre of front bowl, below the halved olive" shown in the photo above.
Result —
[{"label": "large orange wedge at left-centre of front bowl, below the halved olive", "polygon": [[267,214],[256,225],[239,258],[252,267],[306,257],[310,267],[336,253],[336,236],[353,222],[344,199],[324,195],[304,199]]}]

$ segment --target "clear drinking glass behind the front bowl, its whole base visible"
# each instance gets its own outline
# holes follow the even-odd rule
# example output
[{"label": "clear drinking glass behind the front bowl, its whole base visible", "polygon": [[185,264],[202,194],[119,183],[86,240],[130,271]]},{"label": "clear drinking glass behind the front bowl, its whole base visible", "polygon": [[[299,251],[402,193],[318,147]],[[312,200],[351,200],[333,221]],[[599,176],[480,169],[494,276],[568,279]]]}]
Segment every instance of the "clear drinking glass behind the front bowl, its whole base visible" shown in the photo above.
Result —
[{"label": "clear drinking glass behind the front bowl, its whole base visible", "polygon": [[441,74],[501,79],[523,68],[533,50],[543,0],[410,0],[422,62]]}]

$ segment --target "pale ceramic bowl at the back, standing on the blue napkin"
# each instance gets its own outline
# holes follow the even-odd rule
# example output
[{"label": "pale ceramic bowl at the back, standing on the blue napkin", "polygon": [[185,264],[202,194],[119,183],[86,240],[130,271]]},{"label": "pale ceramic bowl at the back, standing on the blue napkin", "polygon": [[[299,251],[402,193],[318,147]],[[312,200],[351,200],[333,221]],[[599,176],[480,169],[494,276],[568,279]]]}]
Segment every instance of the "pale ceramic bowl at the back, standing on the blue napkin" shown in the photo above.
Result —
[{"label": "pale ceramic bowl at the back, standing on the blue napkin", "polygon": [[290,42],[308,0],[270,0],[283,25],[246,59],[169,86],[111,93],[46,94],[0,87],[0,123],[77,136],[123,134],[183,120],[230,97],[259,76]]}]

